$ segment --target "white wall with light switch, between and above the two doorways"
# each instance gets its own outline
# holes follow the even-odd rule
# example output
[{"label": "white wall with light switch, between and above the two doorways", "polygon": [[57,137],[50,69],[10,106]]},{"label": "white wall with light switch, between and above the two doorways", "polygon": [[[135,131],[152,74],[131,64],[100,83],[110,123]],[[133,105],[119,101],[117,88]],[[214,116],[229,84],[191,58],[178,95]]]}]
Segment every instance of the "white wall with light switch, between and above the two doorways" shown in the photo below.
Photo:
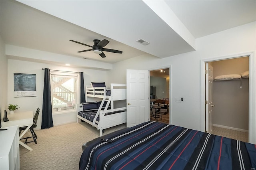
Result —
[{"label": "white wall with light switch, between and above the two doorways", "polygon": [[[171,124],[202,129],[201,120],[201,60],[236,55],[256,50],[256,22],[211,34],[196,39],[196,51],[157,59],[142,55],[113,65],[108,71],[111,81],[126,83],[126,69],[151,69],[172,65],[171,79]],[[255,65],[255,59],[254,59]],[[255,77],[255,75],[252,75]],[[256,77],[254,78],[256,79]],[[256,84],[254,84],[254,88]],[[183,97],[175,103],[175,97]],[[254,99],[255,101],[255,99]],[[255,114],[255,110],[254,110]],[[254,117],[255,119],[255,117]],[[254,128],[255,129],[255,128]],[[256,143],[256,139],[253,139]]]}]

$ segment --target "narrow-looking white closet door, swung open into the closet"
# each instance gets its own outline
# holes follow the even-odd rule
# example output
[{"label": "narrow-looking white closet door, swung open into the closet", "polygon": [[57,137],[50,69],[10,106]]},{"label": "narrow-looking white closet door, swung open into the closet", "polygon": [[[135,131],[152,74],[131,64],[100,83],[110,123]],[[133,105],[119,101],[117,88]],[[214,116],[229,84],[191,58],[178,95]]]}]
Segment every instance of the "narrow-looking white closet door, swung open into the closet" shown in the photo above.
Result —
[{"label": "narrow-looking white closet door, swung open into the closet", "polygon": [[213,81],[213,67],[209,63],[206,63],[206,131],[208,133],[212,132],[212,109],[214,107],[212,101],[212,81]]}]

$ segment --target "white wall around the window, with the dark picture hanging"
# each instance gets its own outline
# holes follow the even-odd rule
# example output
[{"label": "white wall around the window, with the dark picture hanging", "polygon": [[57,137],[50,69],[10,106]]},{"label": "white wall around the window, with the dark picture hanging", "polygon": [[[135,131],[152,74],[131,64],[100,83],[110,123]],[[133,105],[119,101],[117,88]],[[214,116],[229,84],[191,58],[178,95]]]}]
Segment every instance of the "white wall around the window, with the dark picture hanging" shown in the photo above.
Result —
[{"label": "white wall around the window, with the dark picture hanging", "polygon": [[[7,88],[7,110],[8,104],[18,104],[20,107],[18,111],[33,111],[35,113],[37,107],[41,109],[38,117],[38,127],[41,128],[42,123],[42,100],[43,100],[43,89],[44,89],[44,70],[42,68],[49,68],[54,70],[63,71],[76,71],[84,72],[84,85],[90,85],[91,81],[105,81],[106,71],[98,71],[91,69],[81,69],[74,67],[62,67],[44,63],[35,63],[28,61],[19,61],[14,59],[8,59],[8,88]],[[13,73],[30,73],[36,74],[36,97],[14,97],[14,75]],[[2,77],[2,75],[1,75]],[[2,110],[2,108],[1,108]],[[7,110],[8,111],[8,110]],[[17,112],[18,112],[17,111]],[[53,123],[54,126],[65,123],[76,122],[76,112],[54,114]]]}]

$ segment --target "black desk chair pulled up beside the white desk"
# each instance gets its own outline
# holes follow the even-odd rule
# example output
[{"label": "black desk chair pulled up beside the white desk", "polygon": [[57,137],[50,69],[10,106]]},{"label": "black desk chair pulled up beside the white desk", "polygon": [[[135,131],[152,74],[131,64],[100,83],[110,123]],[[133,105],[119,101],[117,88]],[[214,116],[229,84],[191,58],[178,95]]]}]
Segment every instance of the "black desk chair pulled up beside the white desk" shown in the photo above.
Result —
[{"label": "black desk chair pulled up beside the white desk", "polygon": [[[31,140],[31,141],[28,142],[28,138],[33,138],[35,144],[37,143],[37,142],[36,142],[37,136],[36,136],[36,133],[35,133],[35,131],[34,131],[34,128],[37,127],[36,123],[37,123],[37,119],[38,119],[39,112],[40,112],[40,109],[37,108],[37,109],[36,109],[36,113],[35,113],[35,115],[34,115],[34,117],[33,117],[33,125],[29,128],[29,129],[30,129],[30,132],[31,132],[31,134],[32,134],[32,136],[25,137],[25,138],[21,138],[21,139],[26,139],[26,141],[24,142],[25,144],[30,143],[30,142],[33,142],[33,140]],[[27,127],[19,127],[19,135],[20,135],[20,133],[22,132],[22,130],[25,130],[26,128],[27,128]]]}]

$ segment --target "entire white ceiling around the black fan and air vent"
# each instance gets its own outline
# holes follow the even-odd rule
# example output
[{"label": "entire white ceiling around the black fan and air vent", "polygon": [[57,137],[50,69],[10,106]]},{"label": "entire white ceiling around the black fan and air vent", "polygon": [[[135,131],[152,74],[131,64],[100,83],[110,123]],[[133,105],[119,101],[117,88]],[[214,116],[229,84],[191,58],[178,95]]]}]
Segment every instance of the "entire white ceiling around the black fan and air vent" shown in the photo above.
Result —
[{"label": "entire white ceiling around the black fan and air vent", "polygon": [[[196,38],[256,21],[255,0],[20,2],[0,1],[6,44],[106,63],[144,53],[161,58],[186,53],[196,50]],[[140,38],[150,44],[136,42]],[[94,39],[107,39],[105,48],[123,53],[104,52],[106,58],[92,51],[76,53],[90,47],[69,41],[93,45]]]}]

